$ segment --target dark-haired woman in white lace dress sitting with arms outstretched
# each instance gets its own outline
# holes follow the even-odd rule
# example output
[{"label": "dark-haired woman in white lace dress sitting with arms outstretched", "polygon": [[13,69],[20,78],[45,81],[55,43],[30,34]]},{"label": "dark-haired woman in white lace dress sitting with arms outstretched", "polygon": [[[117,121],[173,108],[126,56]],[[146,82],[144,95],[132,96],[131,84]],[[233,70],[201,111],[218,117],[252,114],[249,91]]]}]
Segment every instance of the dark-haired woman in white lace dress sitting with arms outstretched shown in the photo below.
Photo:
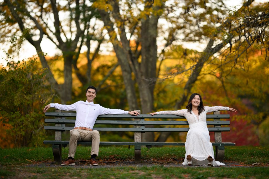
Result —
[{"label": "dark-haired woman in white lace dress sitting with arms outstretched", "polygon": [[206,125],[206,113],[212,111],[227,110],[233,113],[236,109],[222,106],[208,107],[203,106],[201,95],[194,93],[190,96],[186,109],[178,111],[159,111],[151,113],[155,114],[174,114],[185,116],[190,130],[187,133],[185,142],[185,159],[183,165],[224,165],[224,163],[214,160],[214,151],[210,142],[209,131]]}]

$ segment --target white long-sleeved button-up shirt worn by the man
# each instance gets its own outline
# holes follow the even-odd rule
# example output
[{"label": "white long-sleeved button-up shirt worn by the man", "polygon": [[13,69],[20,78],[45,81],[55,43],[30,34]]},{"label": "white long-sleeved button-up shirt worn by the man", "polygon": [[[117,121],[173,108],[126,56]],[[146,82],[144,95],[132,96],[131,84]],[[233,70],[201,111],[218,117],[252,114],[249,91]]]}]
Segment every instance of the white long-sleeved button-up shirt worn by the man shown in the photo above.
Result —
[{"label": "white long-sleeved button-up shirt worn by the man", "polygon": [[89,127],[93,129],[95,120],[102,114],[129,114],[129,111],[123,111],[122,109],[109,109],[94,104],[88,101],[77,101],[74,104],[65,105],[58,103],[50,103],[51,107],[64,111],[76,111],[75,127]]}]

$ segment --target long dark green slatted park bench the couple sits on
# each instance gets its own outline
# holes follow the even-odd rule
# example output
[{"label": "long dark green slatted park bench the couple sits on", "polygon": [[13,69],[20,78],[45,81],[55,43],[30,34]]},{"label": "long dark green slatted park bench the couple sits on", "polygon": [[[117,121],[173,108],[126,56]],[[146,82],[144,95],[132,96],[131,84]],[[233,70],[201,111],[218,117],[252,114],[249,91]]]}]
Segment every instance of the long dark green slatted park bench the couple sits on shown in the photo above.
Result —
[{"label": "long dark green slatted park bench the couple sits on", "polygon": [[[139,110],[138,110],[139,111]],[[140,111],[139,111],[140,112]],[[44,144],[52,144],[52,152],[54,156],[55,163],[61,164],[62,160],[62,147],[66,147],[69,144],[69,141],[62,140],[62,132],[70,131],[74,128],[76,113],[62,112],[57,110],[56,112],[46,112],[45,123],[52,123],[54,126],[44,126],[46,130],[55,131],[55,140],[44,140]],[[53,119],[51,119],[53,117]],[[66,119],[68,118],[68,119]],[[112,120],[100,120],[100,118],[111,118]],[[235,143],[222,142],[221,132],[230,131],[230,127],[221,127],[221,125],[230,125],[230,121],[221,120],[229,119],[229,114],[220,114],[220,111],[215,111],[214,114],[207,115],[207,119],[213,119],[213,121],[207,121],[209,125],[208,130],[215,133],[215,143],[212,143],[215,146],[215,159],[217,161],[223,162],[224,159],[224,146],[232,146]],[[159,120],[145,120],[145,119],[162,119]],[[174,120],[173,120],[174,119]],[[72,127],[66,126],[68,124]],[[102,142],[100,145],[134,145],[134,162],[141,162],[141,146],[146,146],[151,148],[151,146],[163,146],[163,145],[185,145],[182,142],[141,142],[141,133],[144,132],[187,132],[189,131],[188,122],[183,116],[177,115],[149,115],[149,114],[140,114],[139,116],[132,116],[129,114],[108,114],[108,115],[99,115],[95,126],[104,127],[94,127],[93,130],[98,131],[115,131],[115,132],[124,132],[130,131],[134,132],[134,141],[133,142],[119,142],[119,141],[109,141]],[[107,127],[110,126],[111,127]],[[124,125],[125,127],[114,127],[115,125]],[[150,126],[150,127],[145,127]],[[156,126],[156,127],[151,127]],[[213,127],[214,126],[214,127]],[[101,133],[102,134],[102,133]],[[100,140],[102,140],[102,135],[100,135]],[[91,142],[78,142],[79,144],[91,145]]]}]

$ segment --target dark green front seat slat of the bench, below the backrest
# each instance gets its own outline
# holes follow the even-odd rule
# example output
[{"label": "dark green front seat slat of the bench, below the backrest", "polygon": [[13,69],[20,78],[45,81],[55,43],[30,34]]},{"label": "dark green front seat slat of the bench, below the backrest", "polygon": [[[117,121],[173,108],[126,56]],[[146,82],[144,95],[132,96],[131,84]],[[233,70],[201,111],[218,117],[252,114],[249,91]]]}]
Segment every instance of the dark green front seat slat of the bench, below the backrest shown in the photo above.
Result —
[{"label": "dark green front seat slat of the bench, below the backrest", "polygon": [[[69,141],[50,141],[44,140],[44,144],[69,144]],[[77,144],[91,145],[91,142],[77,142]],[[185,145],[185,143],[177,142],[100,142],[100,145]],[[213,146],[234,146],[235,143],[223,142],[223,143],[212,143]]]}]

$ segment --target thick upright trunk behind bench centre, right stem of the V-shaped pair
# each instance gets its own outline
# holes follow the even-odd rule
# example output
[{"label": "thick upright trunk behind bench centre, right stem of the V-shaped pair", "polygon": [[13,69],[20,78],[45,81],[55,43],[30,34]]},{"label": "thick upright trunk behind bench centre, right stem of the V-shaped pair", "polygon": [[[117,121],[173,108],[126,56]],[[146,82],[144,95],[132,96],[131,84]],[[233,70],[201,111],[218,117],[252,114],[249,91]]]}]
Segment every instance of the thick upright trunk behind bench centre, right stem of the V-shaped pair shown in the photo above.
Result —
[{"label": "thick upright trunk behind bench centre, right stem of the V-shaped pair", "polygon": [[[146,2],[145,10],[152,8],[149,2]],[[161,2],[162,4],[162,2]],[[160,14],[157,10],[162,8],[158,5],[153,5],[153,12],[151,17],[141,19],[141,75],[137,76],[139,83],[139,95],[141,101],[141,109],[144,114],[153,111],[154,102],[154,87],[156,84],[156,62],[157,62],[157,24]],[[154,127],[154,126],[146,126]],[[154,142],[154,132],[147,132],[141,134],[141,141]]]}]

